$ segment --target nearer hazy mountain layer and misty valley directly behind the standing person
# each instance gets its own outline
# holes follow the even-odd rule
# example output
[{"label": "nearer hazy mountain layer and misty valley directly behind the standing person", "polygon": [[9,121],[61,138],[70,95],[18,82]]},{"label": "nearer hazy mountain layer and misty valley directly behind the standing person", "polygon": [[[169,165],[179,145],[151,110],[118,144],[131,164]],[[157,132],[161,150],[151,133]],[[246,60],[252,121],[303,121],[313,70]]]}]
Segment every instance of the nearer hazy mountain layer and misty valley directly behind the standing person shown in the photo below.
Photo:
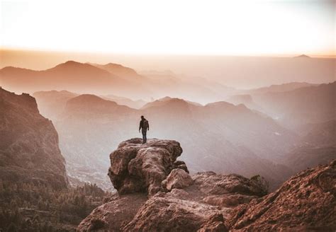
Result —
[{"label": "nearer hazy mountain layer and misty valley directly behind the standing person", "polygon": [[[118,146],[117,141],[138,134],[140,115],[145,115],[151,126],[148,137],[181,142],[191,173],[214,170],[246,176],[261,174],[274,190],[297,171],[336,158],[333,138],[336,115],[335,105],[332,105],[335,92],[325,91],[335,88],[335,83],[306,85],[293,83],[281,88],[267,88],[270,93],[284,96],[286,93],[291,95],[292,91],[320,96],[316,97],[311,114],[304,110],[307,105],[305,96],[284,100],[284,108],[290,108],[286,105],[296,101],[297,111],[306,112],[300,115],[304,124],[296,124],[297,129],[286,128],[282,120],[264,112],[223,101],[203,106],[166,97],[136,110],[107,100],[106,96],[74,94],[71,98],[65,91],[35,93],[34,96],[41,112],[46,112],[60,134],[60,148],[67,160],[69,174],[81,180],[97,182],[108,189],[109,182],[103,171],[108,167],[106,153],[111,147]],[[288,92],[277,92],[287,89]],[[55,102],[49,95],[67,100]],[[247,99],[254,100],[252,97]],[[324,111],[320,110],[322,107]],[[52,113],[52,109],[59,110]],[[325,116],[314,117],[316,120],[312,121],[314,114]],[[332,117],[334,120],[330,120]]]}]

